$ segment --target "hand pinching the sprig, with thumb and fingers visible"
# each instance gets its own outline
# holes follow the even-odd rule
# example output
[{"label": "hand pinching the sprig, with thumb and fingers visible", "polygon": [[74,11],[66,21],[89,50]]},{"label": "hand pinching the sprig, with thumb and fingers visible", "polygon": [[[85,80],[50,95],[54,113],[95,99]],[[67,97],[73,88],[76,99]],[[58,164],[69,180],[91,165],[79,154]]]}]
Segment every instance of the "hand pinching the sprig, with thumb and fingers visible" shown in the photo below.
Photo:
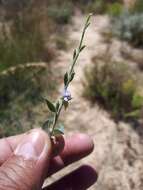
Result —
[{"label": "hand pinching the sprig, with thumb and fingers visible", "polygon": [[[43,181],[93,150],[93,142],[78,134],[59,138],[53,156],[51,140],[41,129],[0,140],[0,190],[40,190]],[[44,190],[83,190],[97,179],[94,169],[83,166]]]}]

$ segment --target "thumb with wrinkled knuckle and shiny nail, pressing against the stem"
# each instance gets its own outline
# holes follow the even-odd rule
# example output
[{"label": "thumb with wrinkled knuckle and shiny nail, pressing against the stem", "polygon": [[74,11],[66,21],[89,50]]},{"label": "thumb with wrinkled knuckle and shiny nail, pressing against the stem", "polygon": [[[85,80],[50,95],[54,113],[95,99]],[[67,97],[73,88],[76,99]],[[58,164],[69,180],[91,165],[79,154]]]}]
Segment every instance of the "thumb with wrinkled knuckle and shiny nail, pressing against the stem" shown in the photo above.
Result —
[{"label": "thumb with wrinkled knuckle and shiny nail, pressing against the stem", "polygon": [[50,157],[48,135],[40,129],[30,131],[0,167],[0,190],[41,189]]}]

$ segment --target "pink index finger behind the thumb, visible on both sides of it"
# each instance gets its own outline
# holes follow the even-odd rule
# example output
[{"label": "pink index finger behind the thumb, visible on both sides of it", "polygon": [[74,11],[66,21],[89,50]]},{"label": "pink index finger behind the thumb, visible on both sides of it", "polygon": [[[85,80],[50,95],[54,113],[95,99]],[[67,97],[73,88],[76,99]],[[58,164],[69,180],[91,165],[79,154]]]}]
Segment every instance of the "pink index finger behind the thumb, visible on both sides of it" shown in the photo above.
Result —
[{"label": "pink index finger behind the thumb, visible on both sides of it", "polygon": [[[4,161],[8,159],[8,157],[13,153],[14,149],[17,147],[17,145],[25,137],[26,134],[8,137],[6,139],[0,140],[0,164],[4,163]],[[78,161],[84,156],[87,156],[92,152],[94,148],[91,138],[84,134],[72,135],[71,137],[65,138],[64,141],[64,150],[62,151],[62,154],[60,156],[57,156],[51,160],[47,176],[57,172],[68,164],[74,161]],[[61,145],[61,147],[62,146],[63,145]]]}]

